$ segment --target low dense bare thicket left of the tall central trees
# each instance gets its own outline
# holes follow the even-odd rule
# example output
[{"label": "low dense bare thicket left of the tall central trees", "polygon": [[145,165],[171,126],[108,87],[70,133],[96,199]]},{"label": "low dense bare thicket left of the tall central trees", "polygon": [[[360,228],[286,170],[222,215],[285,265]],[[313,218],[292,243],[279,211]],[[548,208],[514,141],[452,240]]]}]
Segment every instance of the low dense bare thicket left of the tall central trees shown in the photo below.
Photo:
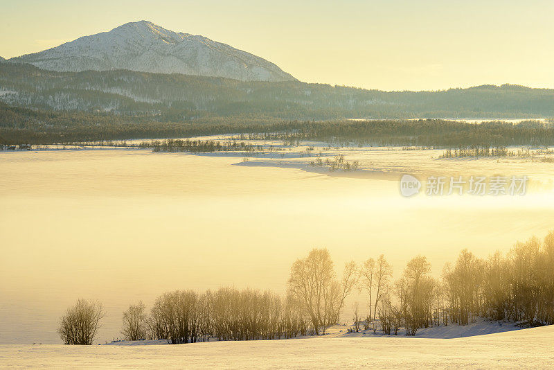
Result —
[{"label": "low dense bare thicket left of the tall central trees", "polygon": [[123,313],[125,340],[171,344],[217,340],[272,340],[313,333],[292,299],[271,292],[220,288],[198,294],[177,290],[159,296],[150,315],[142,302]]}]

